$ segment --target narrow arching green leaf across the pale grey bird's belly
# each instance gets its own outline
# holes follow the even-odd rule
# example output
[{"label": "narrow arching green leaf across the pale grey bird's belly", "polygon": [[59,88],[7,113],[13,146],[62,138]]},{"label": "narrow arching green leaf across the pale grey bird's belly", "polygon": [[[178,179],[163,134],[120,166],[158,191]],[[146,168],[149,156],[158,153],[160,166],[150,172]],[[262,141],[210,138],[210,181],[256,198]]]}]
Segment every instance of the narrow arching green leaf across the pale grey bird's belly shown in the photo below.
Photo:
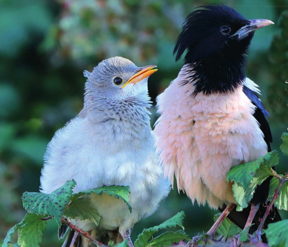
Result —
[{"label": "narrow arching green leaf across the pale grey bird's belly", "polygon": [[86,190],[86,191],[82,191],[77,194],[74,194],[70,200],[73,201],[80,196],[90,195],[91,193],[96,193],[97,195],[102,195],[102,193],[105,193],[109,196],[115,197],[116,199],[122,199],[127,204],[129,211],[132,212],[132,208],[129,204],[129,194],[130,194],[129,186],[113,185],[113,186],[99,187],[99,188],[92,189],[92,190]]}]

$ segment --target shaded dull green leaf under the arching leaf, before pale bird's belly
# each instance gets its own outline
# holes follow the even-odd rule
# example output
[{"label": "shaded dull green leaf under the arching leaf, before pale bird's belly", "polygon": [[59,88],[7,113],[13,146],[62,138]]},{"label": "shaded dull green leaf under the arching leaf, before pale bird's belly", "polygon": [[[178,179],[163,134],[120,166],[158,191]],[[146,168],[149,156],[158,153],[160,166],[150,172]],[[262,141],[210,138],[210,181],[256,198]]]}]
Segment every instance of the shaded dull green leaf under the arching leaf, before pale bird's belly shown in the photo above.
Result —
[{"label": "shaded dull green leaf under the arching leaf, before pale bird's belly", "polygon": [[76,199],[64,211],[66,217],[80,220],[89,220],[99,224],[100,216],[95,208],[91,206],[91,201],[88,198]]}]

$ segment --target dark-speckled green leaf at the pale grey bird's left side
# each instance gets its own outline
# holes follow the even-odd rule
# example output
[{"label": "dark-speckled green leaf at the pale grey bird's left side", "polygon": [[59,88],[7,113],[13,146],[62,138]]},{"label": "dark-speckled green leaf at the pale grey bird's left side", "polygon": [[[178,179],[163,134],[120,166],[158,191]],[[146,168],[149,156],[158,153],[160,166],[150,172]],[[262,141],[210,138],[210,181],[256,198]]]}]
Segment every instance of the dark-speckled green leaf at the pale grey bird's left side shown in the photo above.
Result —
[{"label": "dark-speckled green leaf at the pale grey bird's left side", "polygon": [[69,180],[50,194],[25,192],[22,196],[23,207],[30,214],[53,216],[60,227],[61,217],[66,205],[70,202],[75,185],[74,180]]}]

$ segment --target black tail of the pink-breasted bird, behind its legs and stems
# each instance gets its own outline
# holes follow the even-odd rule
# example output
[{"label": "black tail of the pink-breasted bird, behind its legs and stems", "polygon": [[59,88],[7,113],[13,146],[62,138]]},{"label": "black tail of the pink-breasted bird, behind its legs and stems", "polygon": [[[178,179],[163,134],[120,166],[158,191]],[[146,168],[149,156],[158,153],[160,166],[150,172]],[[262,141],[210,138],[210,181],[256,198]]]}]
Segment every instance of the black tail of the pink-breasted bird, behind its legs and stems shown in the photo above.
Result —
[{"label": "black tail of the pink-breasted bird, behind its legs and stems", "polygon": [[[264,204],[261,204],[259,207],[259,210],[252,222],[252,224],[254,224],[253,226],[251,226],[250,230],[249,230],[249,234],[253,234],[254,232],[256,232],[258,226],[260,225],[261,219],[263,218],[266,209],[267,209],[267,205],[269,205],[269,201],[267,201]],[[224,205],[224,207],[222,209],[219,209],[221,212],[226,208],[226,205]],[[229,215],[227,216],[227,218],[232,221],[235,225],[237,225],[238,227],[240,227],[241,229],[243,229],[245,227],[246,221],[249,217],[249,213],[250,213],[251,207],[247,207],[245,209],[243,209],[243,211],[241,212],[237,212],[236,208],[234,208]],[[264,229],[267,229],[268,225],[270,223],[273,222],[278,222],[281,221],[281,216],[279,214],[278,209],[273,205],[272,210],[270,211],[269,216],[267,217],[265,224],[264,224]],[[262,235],[262,242],[263,243],[268,243],[266,235]]]}]

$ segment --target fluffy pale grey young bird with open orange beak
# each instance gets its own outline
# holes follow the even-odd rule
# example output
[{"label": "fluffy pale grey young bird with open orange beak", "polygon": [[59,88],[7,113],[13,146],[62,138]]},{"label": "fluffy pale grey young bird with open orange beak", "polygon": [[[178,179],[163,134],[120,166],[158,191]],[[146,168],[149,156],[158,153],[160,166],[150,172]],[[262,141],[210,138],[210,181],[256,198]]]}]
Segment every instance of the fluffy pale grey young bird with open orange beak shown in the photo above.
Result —
[{"label": "fluffy pale grey young bird with open orange beak", "polygon": [[[156,154],[148,110],[148,77],[156,67],[137,67],[128,59],[112,57],[92,72],[84,71],[83,110],[56,131],[44,155],[43,193],[51,193],[71,179],[76,182],[74,193],[102,186],[130,186],[132,213],[122,200],[92,194],[91,205],[100,215],[98,226],[88,220],[69,219],[102,243],[127,239],[133,247],[130,233],[134,224],[152,215],[171,189]],[[59,229],[59,238],[66,230],[64,226]],[[63,247],[74,246],[91,245],[70,231]]]}]

